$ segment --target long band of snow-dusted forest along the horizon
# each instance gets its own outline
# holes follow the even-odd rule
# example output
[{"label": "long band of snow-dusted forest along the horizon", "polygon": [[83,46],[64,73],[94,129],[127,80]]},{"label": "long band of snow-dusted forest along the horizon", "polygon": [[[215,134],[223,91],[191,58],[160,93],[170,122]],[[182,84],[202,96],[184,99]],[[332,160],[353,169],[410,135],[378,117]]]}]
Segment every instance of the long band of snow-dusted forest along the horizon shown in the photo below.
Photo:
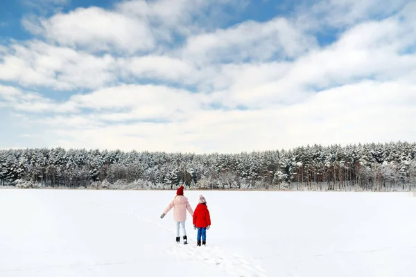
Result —
[{"label": "long band of snow-dusted forest along the horizon", "polygon": [[416,143],[241,154],[0,150],[0,184],[24,188],[414,190]]}]

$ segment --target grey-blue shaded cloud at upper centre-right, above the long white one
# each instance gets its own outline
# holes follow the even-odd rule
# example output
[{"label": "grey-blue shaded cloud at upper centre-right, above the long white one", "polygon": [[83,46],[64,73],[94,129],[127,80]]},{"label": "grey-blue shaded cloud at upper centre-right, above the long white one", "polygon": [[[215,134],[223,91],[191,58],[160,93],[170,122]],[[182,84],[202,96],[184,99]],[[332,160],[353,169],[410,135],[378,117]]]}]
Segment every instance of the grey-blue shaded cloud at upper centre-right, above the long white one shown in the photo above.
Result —
[{"label": "grey-blue shaded cloud at upper centre-right, above the long white one", "polygon": [[201,62],[242,62],[297,57],[315,48],[315,39],[284,18],[242,24],[189,37],[182,56]]}]

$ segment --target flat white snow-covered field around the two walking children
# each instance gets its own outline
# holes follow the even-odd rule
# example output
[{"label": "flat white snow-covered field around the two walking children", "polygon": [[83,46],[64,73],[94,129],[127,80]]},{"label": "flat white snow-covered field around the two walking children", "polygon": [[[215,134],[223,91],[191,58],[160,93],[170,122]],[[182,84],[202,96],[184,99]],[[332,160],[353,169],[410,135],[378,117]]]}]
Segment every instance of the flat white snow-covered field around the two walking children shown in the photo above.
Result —
[{"label": "flat white snow-covered field around the two walking children", "polygon": [[410,193],[203,192],[199,248],[159,218],[174,195],[0,190],[0,276],[416,276]]}]

